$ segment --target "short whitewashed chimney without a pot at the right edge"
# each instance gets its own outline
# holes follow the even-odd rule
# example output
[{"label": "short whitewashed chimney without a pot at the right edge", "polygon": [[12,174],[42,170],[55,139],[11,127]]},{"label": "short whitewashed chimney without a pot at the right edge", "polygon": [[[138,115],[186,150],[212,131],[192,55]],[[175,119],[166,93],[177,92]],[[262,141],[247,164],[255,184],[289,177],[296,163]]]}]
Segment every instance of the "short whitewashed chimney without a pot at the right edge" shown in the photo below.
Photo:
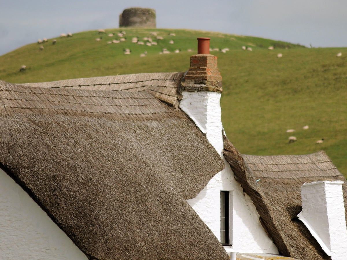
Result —
[{"label": "short whitewashed chimney without a pot at the right edge", "polygon": [[316,181],[301,186],[302,211],[306,225],[332,260],[346,259],[347,229],[343,181]]}]

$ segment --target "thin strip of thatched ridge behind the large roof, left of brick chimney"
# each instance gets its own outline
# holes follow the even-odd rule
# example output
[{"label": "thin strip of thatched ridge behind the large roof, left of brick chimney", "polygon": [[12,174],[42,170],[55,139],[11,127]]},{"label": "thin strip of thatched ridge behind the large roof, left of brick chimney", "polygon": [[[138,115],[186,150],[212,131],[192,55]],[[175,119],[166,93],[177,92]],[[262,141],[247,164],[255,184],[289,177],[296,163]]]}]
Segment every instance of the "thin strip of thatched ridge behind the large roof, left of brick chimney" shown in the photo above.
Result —
[{"label": "thin strip of thatched ridge behind the large roof, left of brick chimney", "polygon": [[156,98],[178,107],[177,88],[184,72],[140,73],[107,77],[66,79],[43,83],[26,83],[24,86],[44,88],[75,88],[89,90],[111,90],[122,92],[147,91]]}]

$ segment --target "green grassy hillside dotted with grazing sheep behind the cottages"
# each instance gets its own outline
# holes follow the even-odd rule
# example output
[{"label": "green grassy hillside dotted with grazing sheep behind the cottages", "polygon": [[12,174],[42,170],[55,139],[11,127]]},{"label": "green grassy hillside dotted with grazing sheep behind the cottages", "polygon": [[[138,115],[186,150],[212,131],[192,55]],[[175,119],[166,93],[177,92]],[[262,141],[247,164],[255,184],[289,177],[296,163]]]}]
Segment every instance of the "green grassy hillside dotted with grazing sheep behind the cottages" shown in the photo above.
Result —
[{"label": "green grassy hillside dotted with grazing sheep behind the cottages", "polygon": [[[223,77],[222,121],[227,136],[244,154],[307,154],[324,150],[347,176],[347,48],[305,48],[270,39],[192,30],[119,28],[74,34],[43,45],[23,46],[0,57],[0,79],[10,83],[53,81],[189,69],[197,37],[211,37]],[[163,40],[155,40],[156,32]],[[108,36],[115,33],[115,36]],[[175,33],[176,36],[170,36]],[[156,46],[137,45],[132,37],[151,37]],[[101,37],[100,41],[96,38]],[[169,44],[173,40],[174,44]],[[39,46],[44,46],[40,51]],[[252,47],[244,51],[242,46]],[[274,50],[268,50],[274,46]],[[130,55],[124,55],[129,48]],[[170,54],[159,54],[163,48]],[[174,53],[179,49],[179,53]],[[193,52],[188,52],[193,49]],[[147,51],[146,57],[140,54]],[[342,52],[341,57],[336,57]],[[277,54],[282,53],[282,58]],[[25,64],[26,71],[19,71]],[[303,126],[308,125],[308,130]],[[295,129],[287,133],[287,129]],[[288,143],[289,136],[297,141]],[[324,138],[323,144],[316,141]]]}]

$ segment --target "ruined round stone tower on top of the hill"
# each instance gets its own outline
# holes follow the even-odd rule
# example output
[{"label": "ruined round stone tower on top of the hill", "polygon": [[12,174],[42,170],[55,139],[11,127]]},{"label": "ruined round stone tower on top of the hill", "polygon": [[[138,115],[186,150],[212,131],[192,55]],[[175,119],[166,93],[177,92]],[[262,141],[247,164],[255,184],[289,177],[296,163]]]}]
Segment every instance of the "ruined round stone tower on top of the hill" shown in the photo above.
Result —
[{"label": "ruined round stone tower on top of the hill", "polygon": [[119,16],[119,27],[156,28],[155,10],[149,8],[128,8]]}]

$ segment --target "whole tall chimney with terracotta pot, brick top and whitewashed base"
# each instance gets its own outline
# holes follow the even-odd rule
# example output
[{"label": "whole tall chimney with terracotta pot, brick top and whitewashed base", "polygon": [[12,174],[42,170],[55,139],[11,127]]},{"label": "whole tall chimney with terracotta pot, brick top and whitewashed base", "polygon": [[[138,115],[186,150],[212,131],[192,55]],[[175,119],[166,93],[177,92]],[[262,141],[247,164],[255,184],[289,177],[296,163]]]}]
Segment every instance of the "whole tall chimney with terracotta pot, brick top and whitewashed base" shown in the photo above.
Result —
[{"label": "whole tall chimney with terracotta pot, brick top and whitewashed base", "polygon": [[197,40],[198,54],[191,56],[190,68],[181,82],[179,106],[222,155],[222,77],[218,70],[217,57],[210,54],[210,38]]}]

